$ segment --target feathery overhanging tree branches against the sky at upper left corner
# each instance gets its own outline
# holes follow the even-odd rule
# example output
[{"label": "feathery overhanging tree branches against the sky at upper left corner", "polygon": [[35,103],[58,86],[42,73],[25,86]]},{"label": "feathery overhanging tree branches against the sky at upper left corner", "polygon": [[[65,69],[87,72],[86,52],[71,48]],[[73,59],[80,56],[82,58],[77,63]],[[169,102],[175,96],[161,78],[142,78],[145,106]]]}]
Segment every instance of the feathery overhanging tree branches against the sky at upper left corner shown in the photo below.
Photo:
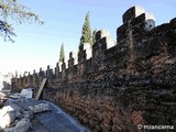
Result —
[{"label": "feathery overhanging tree branches against the sky at upper left corner", "polygon": [[22,6],[18,0],[0,0],[0,35],[4,41],[11,41],[16,36],[12,23],[38,23],[43,24],[38,15],[31,11],[30,8]]}]

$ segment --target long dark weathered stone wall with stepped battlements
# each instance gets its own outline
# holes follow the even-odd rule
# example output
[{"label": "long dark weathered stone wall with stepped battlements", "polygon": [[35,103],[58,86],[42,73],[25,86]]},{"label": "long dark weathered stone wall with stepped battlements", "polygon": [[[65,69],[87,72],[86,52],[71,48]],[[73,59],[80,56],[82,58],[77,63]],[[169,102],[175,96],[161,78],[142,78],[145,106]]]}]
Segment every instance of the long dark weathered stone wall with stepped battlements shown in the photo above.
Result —
[{"label": "long dark weathered stone wall with stepped battlements", "polygon": [[138,124],[176,127],[176,19],[155,26],[140,7],[123,14],[117,44],[106,30],[70,53],[68,65],[12,79],[14,89],[37,88],[43,98],[77,117],[94,132],[136,132]]}]

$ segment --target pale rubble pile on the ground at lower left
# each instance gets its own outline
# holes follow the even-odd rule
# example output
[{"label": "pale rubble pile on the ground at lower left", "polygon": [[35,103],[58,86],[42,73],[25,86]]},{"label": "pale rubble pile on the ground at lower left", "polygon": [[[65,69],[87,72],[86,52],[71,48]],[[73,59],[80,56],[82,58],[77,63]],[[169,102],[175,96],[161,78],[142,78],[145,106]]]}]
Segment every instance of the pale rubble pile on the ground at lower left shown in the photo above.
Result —
[{"label": "pale rubble pile on the ground at lower left", "polygon": [[28,99],[8,99],[0,109],[0,131],[26,132],[31,128],[33,114],[50,111],[48,103],[24,105]]}]

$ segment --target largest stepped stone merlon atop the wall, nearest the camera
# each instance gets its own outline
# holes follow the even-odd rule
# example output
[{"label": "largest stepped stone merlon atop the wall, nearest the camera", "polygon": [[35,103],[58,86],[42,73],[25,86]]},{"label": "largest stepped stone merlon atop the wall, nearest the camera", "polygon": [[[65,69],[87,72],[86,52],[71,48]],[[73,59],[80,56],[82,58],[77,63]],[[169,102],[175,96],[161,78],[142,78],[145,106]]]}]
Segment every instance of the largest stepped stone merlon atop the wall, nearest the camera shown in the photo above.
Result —
[{"label": "largest stepped stone merlon atop the wall, nearest the camera", "polygon": [[140,37],[154,28],[155,19],[152,13],[141,7],[132,7],[123,14],[123,24],[117,30],[117,41],[124,43],[129,38]]}]

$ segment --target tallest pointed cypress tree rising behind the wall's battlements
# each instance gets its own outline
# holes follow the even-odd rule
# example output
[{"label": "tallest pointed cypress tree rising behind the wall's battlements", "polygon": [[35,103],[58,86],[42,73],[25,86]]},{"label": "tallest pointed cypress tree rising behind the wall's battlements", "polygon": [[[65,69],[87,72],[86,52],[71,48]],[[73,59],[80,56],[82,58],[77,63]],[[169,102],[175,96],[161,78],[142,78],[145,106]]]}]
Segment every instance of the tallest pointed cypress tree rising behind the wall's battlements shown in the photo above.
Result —
[{"label": "tallest pointed cypress tree rising behind the wall's battlements", "polygon": [[81,37],[80,37],[79,46],[82,45],[84,43],[92,44],[91,29],[90,29],[90,22],[89,22],[89,12],[85,16],[85,23],[81,30]]}]

